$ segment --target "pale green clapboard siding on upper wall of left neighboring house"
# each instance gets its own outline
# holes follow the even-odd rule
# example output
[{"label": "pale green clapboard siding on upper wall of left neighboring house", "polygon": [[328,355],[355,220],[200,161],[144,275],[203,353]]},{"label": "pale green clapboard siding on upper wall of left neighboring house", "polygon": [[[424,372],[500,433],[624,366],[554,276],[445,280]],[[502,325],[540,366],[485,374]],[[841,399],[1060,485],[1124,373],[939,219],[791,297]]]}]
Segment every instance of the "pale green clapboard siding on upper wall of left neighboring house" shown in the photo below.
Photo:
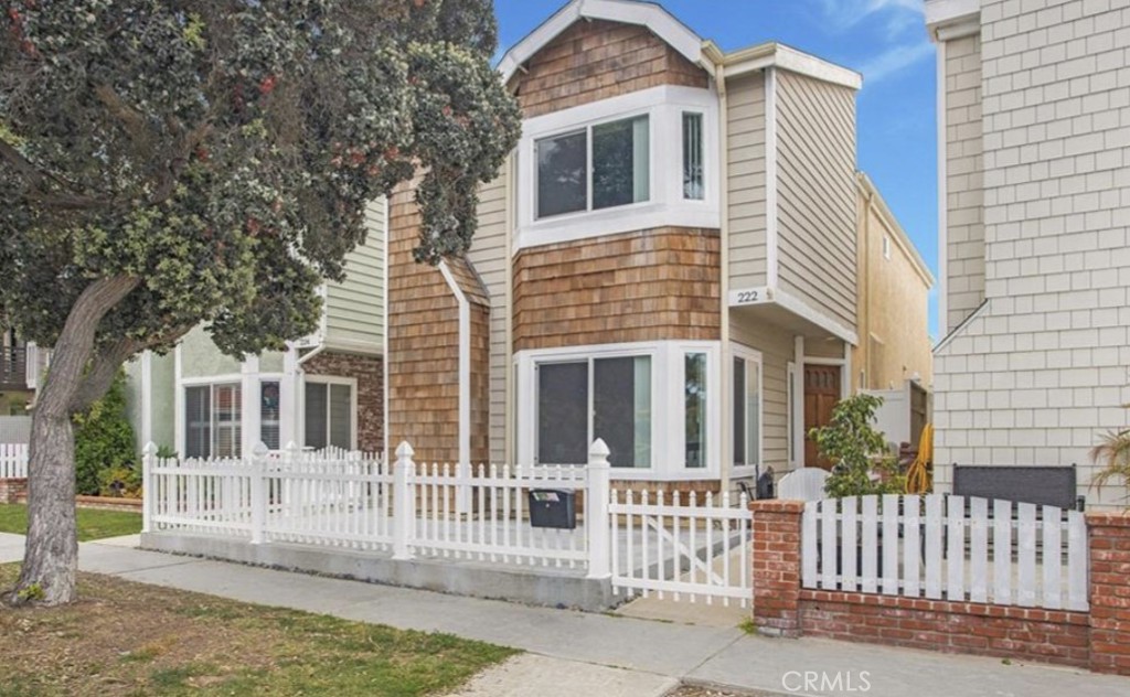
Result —
[{"label": "pale green clapboard siding on upper wall of left neighboring house", "polygon": [[331,345],[383,348],[384,209],[384,199],[365,207],[365,244],[346,255],[346,280],[327,285],[325,333]]}]

